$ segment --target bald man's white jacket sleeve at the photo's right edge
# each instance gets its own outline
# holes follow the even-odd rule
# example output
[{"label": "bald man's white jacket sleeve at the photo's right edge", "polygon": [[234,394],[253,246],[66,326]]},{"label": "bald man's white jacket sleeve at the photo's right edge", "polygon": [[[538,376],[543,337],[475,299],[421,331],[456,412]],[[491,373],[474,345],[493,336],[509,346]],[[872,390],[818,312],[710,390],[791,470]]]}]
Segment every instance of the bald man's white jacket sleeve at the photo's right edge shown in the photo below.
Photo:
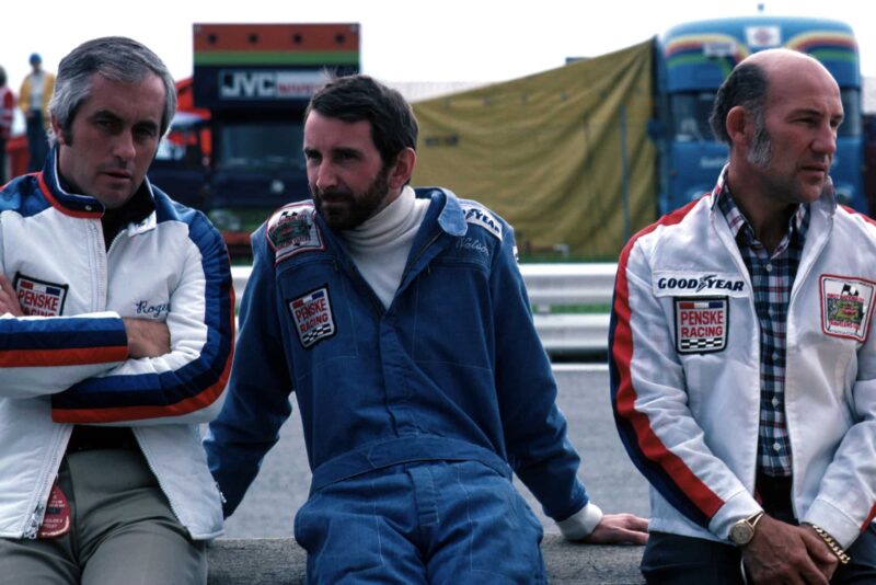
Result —
[{"label": "bald man's white jacket sleeve at the photo's right edge", "polygon": [[846,392],[853,425],[845,433],[803,521],[823,528],[848,549],[876,517],[876,340],[857,353]]}]

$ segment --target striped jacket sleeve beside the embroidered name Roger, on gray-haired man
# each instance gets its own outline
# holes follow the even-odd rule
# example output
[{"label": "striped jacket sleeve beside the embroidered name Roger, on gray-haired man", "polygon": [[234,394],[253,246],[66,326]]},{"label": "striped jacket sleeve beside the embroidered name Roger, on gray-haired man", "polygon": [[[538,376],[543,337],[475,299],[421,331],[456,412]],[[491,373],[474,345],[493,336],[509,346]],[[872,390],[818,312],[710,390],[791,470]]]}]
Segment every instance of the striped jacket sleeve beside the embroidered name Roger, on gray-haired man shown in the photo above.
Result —
[{"label": "striped jacket sleeve beside the embroidered name Roger, on gray-haired man", "polygon": [[231,369],[234,291],[222,238],[197,214],[170,295],[171,353],[128,359],[51,398],[53,420],[77,424],[205,423]]}]

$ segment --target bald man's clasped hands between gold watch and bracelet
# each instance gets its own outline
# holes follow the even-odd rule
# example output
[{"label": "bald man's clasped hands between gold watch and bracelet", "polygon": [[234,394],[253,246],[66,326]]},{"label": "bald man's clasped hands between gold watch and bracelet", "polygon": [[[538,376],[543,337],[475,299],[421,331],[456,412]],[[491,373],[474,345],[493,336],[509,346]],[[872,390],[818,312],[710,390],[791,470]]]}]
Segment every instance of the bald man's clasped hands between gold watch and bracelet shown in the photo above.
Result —
[{"label": "bald man's clasped hands between gold watch and bracelet", "polygon": [[792,526],[768,515],[754,538],[742,547],[742,561],[758,583],[828,585],[839,562],[811,528]]}]

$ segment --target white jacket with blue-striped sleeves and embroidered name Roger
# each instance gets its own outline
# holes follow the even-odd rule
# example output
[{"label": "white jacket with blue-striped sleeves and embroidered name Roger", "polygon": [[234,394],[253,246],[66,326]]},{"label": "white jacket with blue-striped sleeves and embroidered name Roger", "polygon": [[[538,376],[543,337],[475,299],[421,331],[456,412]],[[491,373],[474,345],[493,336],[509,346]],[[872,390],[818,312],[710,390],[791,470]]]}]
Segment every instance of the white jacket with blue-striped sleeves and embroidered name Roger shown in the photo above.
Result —
[{"label": "white jacket with blue-striped sleeves and embroidered name Roger", "polygon": [[[0,271],[30,317],[0,318],[0,537],[33,537],[73,424],[130,426],[195,539],[221,534],[198,423],[220,408],[234,302],[220,234],[152,187],[106,250],[103,206],[67,193],[56,151],[0,193]],[[168,324],[171,353],[128,359],[123,317]]]}]

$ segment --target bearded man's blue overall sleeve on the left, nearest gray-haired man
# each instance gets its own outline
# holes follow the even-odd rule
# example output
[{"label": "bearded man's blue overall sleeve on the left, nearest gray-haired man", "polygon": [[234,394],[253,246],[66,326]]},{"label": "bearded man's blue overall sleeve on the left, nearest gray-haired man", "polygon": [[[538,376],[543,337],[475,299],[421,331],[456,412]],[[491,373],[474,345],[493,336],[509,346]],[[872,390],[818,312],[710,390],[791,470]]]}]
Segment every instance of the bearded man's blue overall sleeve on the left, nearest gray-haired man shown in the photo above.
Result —
[{"label": "bearded man's blue overall sleeve on the left, nearest gray-haired man", "polygon": [[240,336],[228,397],[204,439],[226,517],[237,509],[265,454],[292,412],[292,382],[277,314],[274,255],[264,227],[253,236],[253,269],[240,309]]}]

